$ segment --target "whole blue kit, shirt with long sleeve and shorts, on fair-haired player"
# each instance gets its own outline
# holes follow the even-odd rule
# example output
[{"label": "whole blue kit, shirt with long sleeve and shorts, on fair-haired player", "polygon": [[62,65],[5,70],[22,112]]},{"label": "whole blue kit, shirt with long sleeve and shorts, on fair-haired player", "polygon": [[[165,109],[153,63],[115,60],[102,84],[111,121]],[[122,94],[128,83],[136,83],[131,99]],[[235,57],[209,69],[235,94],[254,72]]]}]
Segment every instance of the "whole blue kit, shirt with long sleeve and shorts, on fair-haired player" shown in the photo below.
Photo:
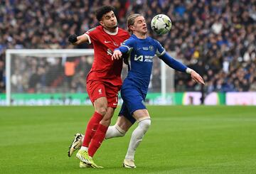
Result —
[{"label": "whole blue kit, shirt with long sleeve and shorts, on fair-haired player", "polygon": [[119,116],[125,116],[132,124],[136,121],[132,114],[138,109],[146,109],[144,101],[149,87],[153,60],[158,56],[169,67],[186,72],[186,66],[171,58],[161,44],[153,38],[139,39],[132,35],[128,40],[117,48],[122,53],[129,53],[124,58],[128,64],[128,75],[125,78],[121,97],[124,100]]}]

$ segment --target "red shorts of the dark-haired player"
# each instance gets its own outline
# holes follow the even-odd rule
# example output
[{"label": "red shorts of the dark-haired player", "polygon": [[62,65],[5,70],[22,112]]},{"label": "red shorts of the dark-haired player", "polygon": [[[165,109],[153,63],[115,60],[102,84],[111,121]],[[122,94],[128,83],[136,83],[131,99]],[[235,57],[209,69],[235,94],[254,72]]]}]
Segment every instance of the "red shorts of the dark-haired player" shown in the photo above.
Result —
[{"label": "red shorts of the dark-haired player", "polygon": [[117,107],[118,91],[121,86],[114,86],[100,81],[88,81],[86,87],[92,104],[95,102],[95,99],[107,97],[107,107]]}]

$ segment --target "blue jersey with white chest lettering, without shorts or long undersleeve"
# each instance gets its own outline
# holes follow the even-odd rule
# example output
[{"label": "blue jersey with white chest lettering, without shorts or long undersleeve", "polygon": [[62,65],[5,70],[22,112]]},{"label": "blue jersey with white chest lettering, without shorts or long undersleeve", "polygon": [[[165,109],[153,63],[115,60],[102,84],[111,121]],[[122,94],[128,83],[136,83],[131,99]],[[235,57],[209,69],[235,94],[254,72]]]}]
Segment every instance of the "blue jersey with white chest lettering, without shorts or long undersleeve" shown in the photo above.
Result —
[{"label": "blue jersey with white chest lettering, without shorts or long undersleeve", "polygon": [[153,60],[155,56],[164,55],[164,48],[153,38],[139,39],[135,35],[125,40],[119,48],[122,49],[122,47],[129,50],[129,57],[127,60],[124,60],[128,64],[127,79],[132,80],[146,94],[149,87]]}]

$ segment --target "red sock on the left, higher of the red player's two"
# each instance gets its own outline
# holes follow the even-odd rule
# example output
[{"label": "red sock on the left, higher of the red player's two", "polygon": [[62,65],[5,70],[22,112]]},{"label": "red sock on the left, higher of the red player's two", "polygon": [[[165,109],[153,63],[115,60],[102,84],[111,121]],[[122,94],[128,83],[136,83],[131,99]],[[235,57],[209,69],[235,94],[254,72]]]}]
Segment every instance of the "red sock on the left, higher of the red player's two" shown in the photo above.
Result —
[{"label": "red sock on the left, higher of the red player's two", "polygon": [[82,142],[82,146],[89,147],[89,143],[94,136],[95,132],[97,131],[97,127],[100,124],[100,121],[102,120],[102,115],[95,112],[90,121],[87,124],[87,128],[85,131],[85,138]]}]

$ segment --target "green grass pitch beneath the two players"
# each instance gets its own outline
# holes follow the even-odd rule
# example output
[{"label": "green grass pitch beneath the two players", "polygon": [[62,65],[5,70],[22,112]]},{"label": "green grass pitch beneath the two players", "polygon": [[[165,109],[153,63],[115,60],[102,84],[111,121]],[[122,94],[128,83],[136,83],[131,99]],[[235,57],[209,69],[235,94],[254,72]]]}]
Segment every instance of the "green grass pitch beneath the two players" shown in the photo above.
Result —
[{"label": "green grass pitch beneath the two players", "polygon": [[135,126],[102,143],[94,160],[105,168],[81,169],[67,151],[92,107],[0,107],[0,173],[256,173],[256,107],[148,109],[136,169],[122,168]]}]

